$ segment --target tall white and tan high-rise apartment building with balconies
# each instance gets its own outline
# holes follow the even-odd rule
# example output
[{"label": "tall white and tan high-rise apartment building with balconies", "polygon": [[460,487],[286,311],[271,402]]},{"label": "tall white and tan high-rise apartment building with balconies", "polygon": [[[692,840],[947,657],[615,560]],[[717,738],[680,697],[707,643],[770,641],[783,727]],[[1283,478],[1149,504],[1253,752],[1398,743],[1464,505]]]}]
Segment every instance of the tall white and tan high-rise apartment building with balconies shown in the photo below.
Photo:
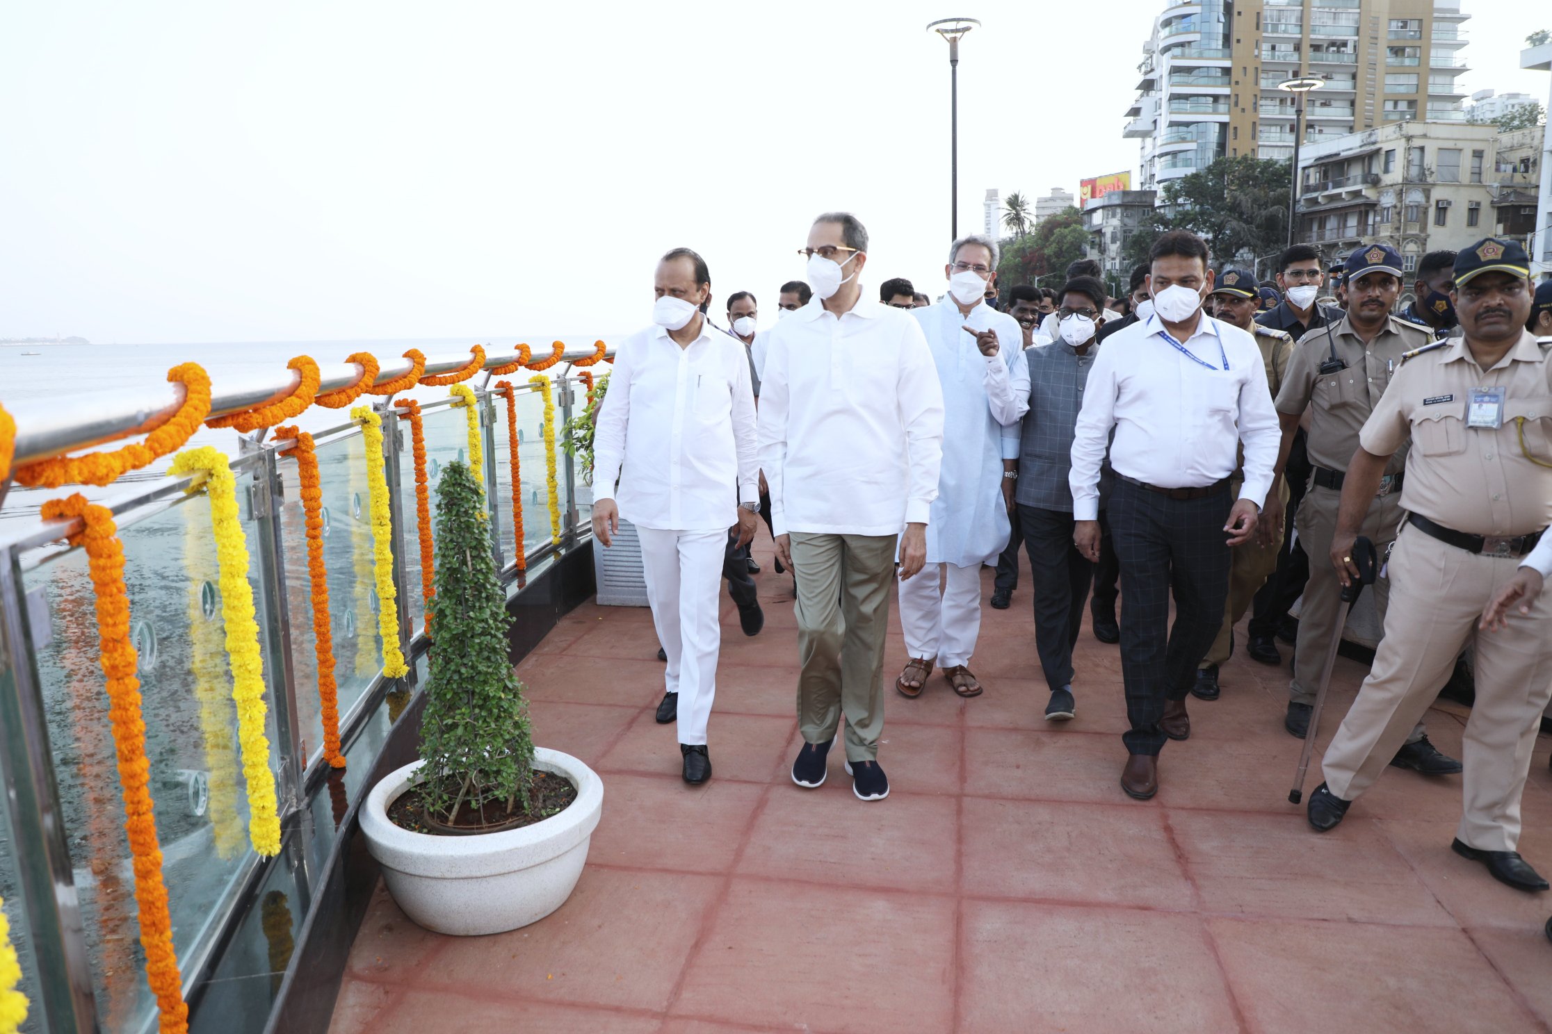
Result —
[{"label": "tall white and tan high-rise apartment building with balconies", "polygon": [[1169,0],[1138,65],[1127,136],[1142,141],[1138,188],[1226,155],[1291,158],[1296,76],[1304,138],[1386,122],[1464,122],[1460,0]]}]

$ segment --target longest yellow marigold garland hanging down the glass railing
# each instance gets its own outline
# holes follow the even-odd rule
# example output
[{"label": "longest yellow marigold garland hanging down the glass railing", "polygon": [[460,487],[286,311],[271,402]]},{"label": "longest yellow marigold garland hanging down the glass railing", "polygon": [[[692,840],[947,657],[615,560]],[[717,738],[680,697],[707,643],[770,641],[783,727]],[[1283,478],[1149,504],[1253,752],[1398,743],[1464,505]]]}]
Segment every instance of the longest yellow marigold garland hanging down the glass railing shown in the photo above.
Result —
[{"label": "longest yellow marigold garland hanging down the glass railing", "polygon": [[270,772],[270,741],[264,735],[264,656],[259,623],[253,617],[253,586],[248,584],[248,543],[237,516],[237,484],[227,456],[210,445],[178,453],[172,476],[205,474],[211,536],[220,569],[220,617],[227,626],[227,657],[231,663],[231,699],[237,704],[237,743],[242,775],[248,784],[248,839],[264,857],[281,853],[281,820]]}]

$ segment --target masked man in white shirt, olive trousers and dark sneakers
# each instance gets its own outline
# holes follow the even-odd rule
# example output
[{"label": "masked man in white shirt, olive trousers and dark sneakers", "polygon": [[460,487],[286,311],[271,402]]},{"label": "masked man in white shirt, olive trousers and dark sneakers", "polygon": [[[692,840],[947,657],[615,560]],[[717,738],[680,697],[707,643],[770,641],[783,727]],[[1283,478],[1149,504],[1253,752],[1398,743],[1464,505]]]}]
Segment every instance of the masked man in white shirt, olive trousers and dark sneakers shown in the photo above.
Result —
[{"label": "masked man in white shirt, olive trousers and dark sneakers", "polygon": [[944,397],[922,329],[864,298],[868,231],[849,212],[809,229],[813,299],[770,330],[760,374],[760,467],[776,555],[798,581],[798,730],[792,780],[824,783],[846,713],[846,772],[883,800],[883,646],[896,550],[900,578],[927,560]]}]

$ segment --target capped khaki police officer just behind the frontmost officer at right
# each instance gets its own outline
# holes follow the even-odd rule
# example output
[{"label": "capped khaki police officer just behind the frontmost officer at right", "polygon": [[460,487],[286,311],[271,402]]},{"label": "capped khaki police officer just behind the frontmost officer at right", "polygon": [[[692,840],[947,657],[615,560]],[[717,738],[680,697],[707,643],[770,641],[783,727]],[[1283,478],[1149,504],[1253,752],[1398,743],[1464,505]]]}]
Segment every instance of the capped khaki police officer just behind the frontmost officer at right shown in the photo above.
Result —
[{"label": "capped khaki police officer just behind the frontmost officer at right", "polygon": [[[1341,586],[1321,557],[1332,547],[1336,530],[1336,505],[1341,499],[1347,460],[1358,448],[1358,431],[1374,412],[1401,357],[1428,344],[1432,335],[1425,329],[1391,315],[1401,290],[1401,256],[1384,245],[1363,245],[1347,259],[1344,270],[1347,313],[1336,322],[1310,329],[1299,338],[1293,364],[1277,395],[1282,419],[1282,456],[1293,446],[1299,417],[1310,409],[1308,451],[1315,473],[1296,516],[1299,541],[1310,555],[1310,581],[1304,586],[1299,611],[1299,642],[1293,659],[1293,682],[1288,685],[1288,715],[1284,727],[1305,736],[1310,708],[1319,688],[1321,665],[1330,653],[1330,637],[1341,634],[1346,605]],[[1381,550],[1395,541],[1401,522],[1403,468],[1406,445],[1401,443],[1369,501],[1363,535]],[[1282,473],[1282,464],[1277,471]],[[1274,502],[1268,499],[1268,505]],[[1391,584],[1374,583],[1374,603],[1384,622]],[[1419,722],[1392,761],[1397,767],[1415,769],[1425,775],[1453,775],[1460,763],[1439,753]]]}]

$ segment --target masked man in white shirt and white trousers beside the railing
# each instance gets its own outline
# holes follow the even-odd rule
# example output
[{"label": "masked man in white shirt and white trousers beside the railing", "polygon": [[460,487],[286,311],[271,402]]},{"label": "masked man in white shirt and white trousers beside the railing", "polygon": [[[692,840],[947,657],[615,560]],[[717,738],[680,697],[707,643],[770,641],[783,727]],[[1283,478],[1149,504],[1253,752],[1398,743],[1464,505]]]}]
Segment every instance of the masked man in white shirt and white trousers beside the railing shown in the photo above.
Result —
[{"label": "masked man in white shirt and white trousers beside the railing", "polygon": [[743,346],[700,312],[711,299],[705,259],[669,251],[655,290],[655,326],[621,344],[599,409],[593,533],[608,547],[621,516],[636,526],[652,623],[667,654],[660,713],[677,705],[684,781],[698,784],[711,778],[706,722],[728,529],[737,524],[737,544],[748,544],[760,505],[754,392]]}]

